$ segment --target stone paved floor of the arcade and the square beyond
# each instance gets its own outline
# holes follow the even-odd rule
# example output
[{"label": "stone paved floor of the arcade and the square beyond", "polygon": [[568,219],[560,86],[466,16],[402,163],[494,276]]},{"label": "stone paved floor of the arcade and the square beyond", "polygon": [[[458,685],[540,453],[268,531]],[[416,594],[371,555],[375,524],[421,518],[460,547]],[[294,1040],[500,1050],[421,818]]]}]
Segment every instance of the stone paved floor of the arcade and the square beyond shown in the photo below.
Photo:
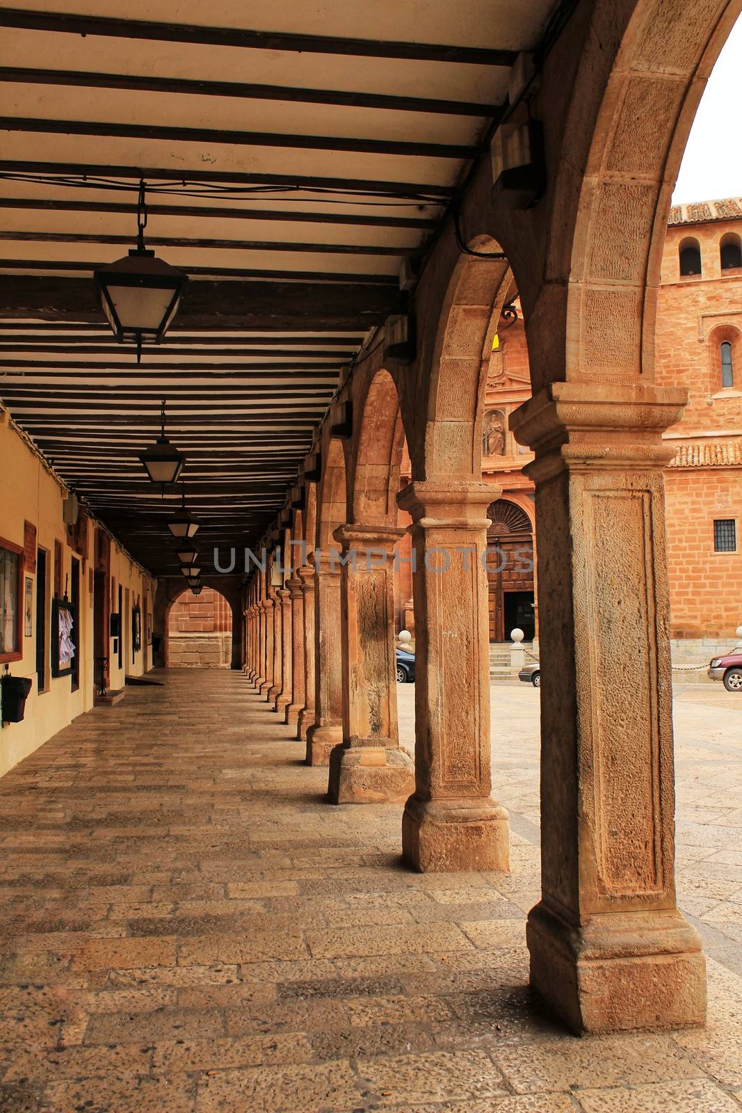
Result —
[{"label": "stone paved floor of the arcade and the square beyond", "polygon": [[537,692],[493,689],[512,873],[423,876],[400,808],[327,805],[241,674],[162,678],[0,781],[2,1113],[739,1113],[742,717],[719,693],[676,706],[709,1028],[581,1041],[526,988]]}]

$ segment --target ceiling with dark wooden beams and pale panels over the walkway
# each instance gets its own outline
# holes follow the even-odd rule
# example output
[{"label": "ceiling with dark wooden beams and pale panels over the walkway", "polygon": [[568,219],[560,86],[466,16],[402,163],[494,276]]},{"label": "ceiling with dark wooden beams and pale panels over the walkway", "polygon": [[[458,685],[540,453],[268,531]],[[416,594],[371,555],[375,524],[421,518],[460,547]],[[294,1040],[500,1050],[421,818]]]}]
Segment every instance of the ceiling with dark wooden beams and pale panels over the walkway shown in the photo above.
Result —
[{"label": "ceiling with dark wooden beams and pale panels over the walkway", "polygon": [[[211,550],[254,545],[478,156],[553,0],[29,0],[0,7],[0,398],[155,574],[178,574],[138,453],[167,432]],[[189,275],[138,366],[92,270]]]}]

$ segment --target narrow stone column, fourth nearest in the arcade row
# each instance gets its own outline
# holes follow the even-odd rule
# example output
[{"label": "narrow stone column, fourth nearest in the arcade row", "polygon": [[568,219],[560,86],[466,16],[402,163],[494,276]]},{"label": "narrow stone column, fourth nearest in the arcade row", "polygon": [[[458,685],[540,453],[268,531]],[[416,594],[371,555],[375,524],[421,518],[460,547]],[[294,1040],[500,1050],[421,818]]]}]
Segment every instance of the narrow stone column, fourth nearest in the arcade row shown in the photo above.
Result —
[{"label": "narrow stone column, fourth nearest in the arcade row", "polygon": [[329,765],[343,741],[340,653],[340,568],[337,554],[323,553],[315,570],[315,722],[307,731],[307,765]]}]

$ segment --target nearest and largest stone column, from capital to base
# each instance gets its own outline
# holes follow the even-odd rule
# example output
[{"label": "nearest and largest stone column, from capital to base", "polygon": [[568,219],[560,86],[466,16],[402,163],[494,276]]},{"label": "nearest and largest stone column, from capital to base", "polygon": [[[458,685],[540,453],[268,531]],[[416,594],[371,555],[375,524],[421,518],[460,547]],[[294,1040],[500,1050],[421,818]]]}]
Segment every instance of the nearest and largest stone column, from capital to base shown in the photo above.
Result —
[{"label": "nearest and largest stone column, from capital to base", "polygon": [[685,391],[554,383],[512,415],[536,454],[542,899],[531,982],[575,1031],[705,1016],[675,904],[662,431]]}]

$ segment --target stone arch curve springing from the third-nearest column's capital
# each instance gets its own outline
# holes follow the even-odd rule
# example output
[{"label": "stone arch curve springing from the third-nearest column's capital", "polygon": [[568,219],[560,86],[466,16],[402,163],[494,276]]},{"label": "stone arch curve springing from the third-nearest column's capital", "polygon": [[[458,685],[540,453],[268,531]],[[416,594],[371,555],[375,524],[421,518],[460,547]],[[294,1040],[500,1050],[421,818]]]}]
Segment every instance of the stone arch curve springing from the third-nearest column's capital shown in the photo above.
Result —
[{"label": "stone arch curve springing from the third-nearest column's capital", "polygon": [[385,368],[358,392],[354,447],[348,466],[348,521],[395,525],[397,492],[405,447],[399,396]]}]

